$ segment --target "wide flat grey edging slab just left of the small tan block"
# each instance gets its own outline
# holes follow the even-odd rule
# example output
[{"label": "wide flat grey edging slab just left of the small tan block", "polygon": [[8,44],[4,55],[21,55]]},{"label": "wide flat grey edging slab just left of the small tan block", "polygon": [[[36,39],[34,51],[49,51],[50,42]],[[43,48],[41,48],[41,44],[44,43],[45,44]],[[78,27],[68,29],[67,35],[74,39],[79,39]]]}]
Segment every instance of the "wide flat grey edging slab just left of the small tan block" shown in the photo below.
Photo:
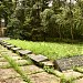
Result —
[{"label": "wide flat grey edging slab just left of the small tan block", "polygon": [[35,62],[42,62],[42,61],[48,61],[49,59],[44,55],[29,55],[29,58]]}]

